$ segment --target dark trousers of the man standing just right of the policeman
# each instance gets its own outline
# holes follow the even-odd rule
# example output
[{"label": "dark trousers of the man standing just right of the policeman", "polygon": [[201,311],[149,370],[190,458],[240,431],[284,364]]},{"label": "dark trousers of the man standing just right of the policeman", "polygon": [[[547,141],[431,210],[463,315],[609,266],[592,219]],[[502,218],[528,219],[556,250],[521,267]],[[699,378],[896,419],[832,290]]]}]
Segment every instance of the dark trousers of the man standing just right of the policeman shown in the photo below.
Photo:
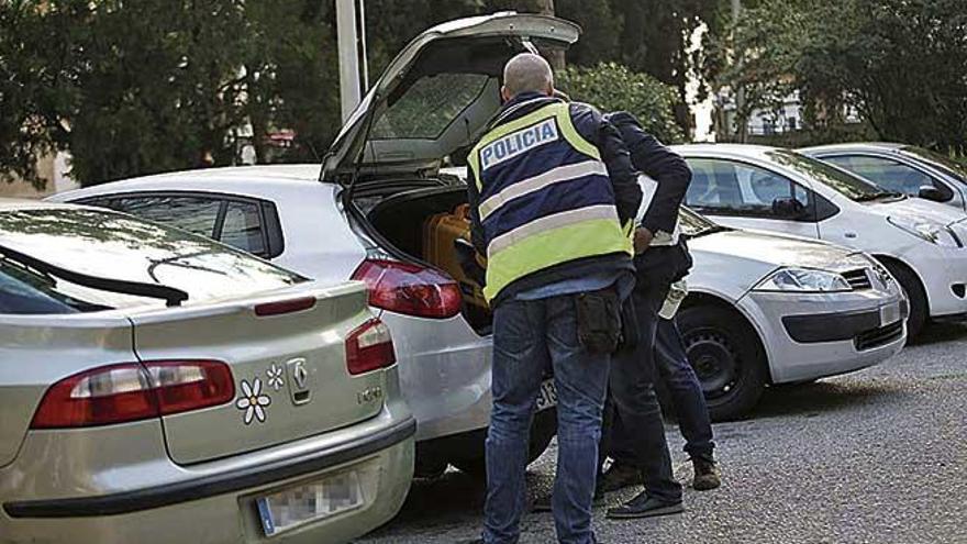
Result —
[{"label": "dark trousers of the man standing just right of the policeman", "polygon": [[[653,255],[665,251],[657,249]],[[605,422],[610,419],[610,425],[604,430],[601,451],[608,452],[615,462],[641,467],[648,495],[665,501],[679,501],[681,485],[673,475],[665,422],[655,395],[658,373],[654,346],[658,310],[671,281],[680,274],[675,263],[642,257],[635,262],[637,280],[632,292],[641,336],[633,349],[615,354],[612,359],[605,406]]]}]

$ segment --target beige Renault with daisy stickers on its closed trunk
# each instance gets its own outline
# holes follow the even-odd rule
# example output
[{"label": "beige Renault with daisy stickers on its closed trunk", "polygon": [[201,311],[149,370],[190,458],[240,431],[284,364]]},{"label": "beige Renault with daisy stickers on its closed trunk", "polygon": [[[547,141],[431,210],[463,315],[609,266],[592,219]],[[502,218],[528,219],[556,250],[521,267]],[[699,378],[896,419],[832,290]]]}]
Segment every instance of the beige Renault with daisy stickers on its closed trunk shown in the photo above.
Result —
[{"label": "beige Renault with daisy stickers on its closed trunk", "polygon": [[96,208],[0,201],[3,542],[346,542],[415,422],[365,286]]}]

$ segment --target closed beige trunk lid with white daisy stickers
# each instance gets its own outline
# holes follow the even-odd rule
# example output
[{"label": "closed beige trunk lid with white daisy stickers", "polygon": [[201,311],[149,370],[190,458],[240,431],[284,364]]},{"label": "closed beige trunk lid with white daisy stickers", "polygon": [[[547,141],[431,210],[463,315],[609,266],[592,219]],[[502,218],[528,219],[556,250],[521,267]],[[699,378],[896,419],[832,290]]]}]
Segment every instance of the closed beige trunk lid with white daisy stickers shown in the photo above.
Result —
[{"label": "closed beige trunk lid with white daisy stickers", "polygon": [[[259,315],[262,314],[262,315]],[[347,335],[371,319],[363,284],[134,315],[142,360],[226,363],[230,403],[165,415],[171,458],[190,464],[299,440],[371,418],[382,369],[351,375]]]}]

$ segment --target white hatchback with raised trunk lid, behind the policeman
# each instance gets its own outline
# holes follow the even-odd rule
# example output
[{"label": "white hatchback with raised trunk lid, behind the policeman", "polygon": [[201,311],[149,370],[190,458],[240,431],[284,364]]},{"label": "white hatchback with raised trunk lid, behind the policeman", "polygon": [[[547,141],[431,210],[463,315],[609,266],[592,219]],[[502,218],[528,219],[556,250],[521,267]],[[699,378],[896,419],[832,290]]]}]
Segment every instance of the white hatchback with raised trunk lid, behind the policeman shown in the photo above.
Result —
[{"label": "white hatchback with raised trunk lid, behind the policeman", "polygon": [[[418,421],[418,473],[437,474],[447,463],[480,471],[491,406],[489,312],[463,304],[458,285],[425,263],[423,224],[445,206],[410,195],[446,188],[430,174],[481,134],[500,107],[507,60],[535,51],[532,41],[565,47],[579,33],[573,23],[534,14],[447,22],[389,64],[322,168],[179,173],[56,200],[169,218],[320,281],[366,281],[370,306],[393,334],[402,390]],[[553,388],[543,391],[531,433],[534,458],[556,430]]]}]

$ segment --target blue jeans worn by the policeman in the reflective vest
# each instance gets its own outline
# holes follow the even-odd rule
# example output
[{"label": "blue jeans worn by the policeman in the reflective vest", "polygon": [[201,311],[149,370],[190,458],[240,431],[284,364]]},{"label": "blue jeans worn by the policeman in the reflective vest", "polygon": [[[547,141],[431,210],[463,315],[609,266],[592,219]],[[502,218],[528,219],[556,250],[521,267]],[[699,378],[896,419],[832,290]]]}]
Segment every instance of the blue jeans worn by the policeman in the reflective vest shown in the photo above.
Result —
[{"label": "blue jeans worn by the policeman in the reflective vest", "polygon": [[575,296],[508,300],[493,311],[493,411],[487,432],[484,541],[515,543],[534,404],[545,370],[557,386],[554,523],[562,543],[596,542],[591,502],[610,355],[578,343]]}]

